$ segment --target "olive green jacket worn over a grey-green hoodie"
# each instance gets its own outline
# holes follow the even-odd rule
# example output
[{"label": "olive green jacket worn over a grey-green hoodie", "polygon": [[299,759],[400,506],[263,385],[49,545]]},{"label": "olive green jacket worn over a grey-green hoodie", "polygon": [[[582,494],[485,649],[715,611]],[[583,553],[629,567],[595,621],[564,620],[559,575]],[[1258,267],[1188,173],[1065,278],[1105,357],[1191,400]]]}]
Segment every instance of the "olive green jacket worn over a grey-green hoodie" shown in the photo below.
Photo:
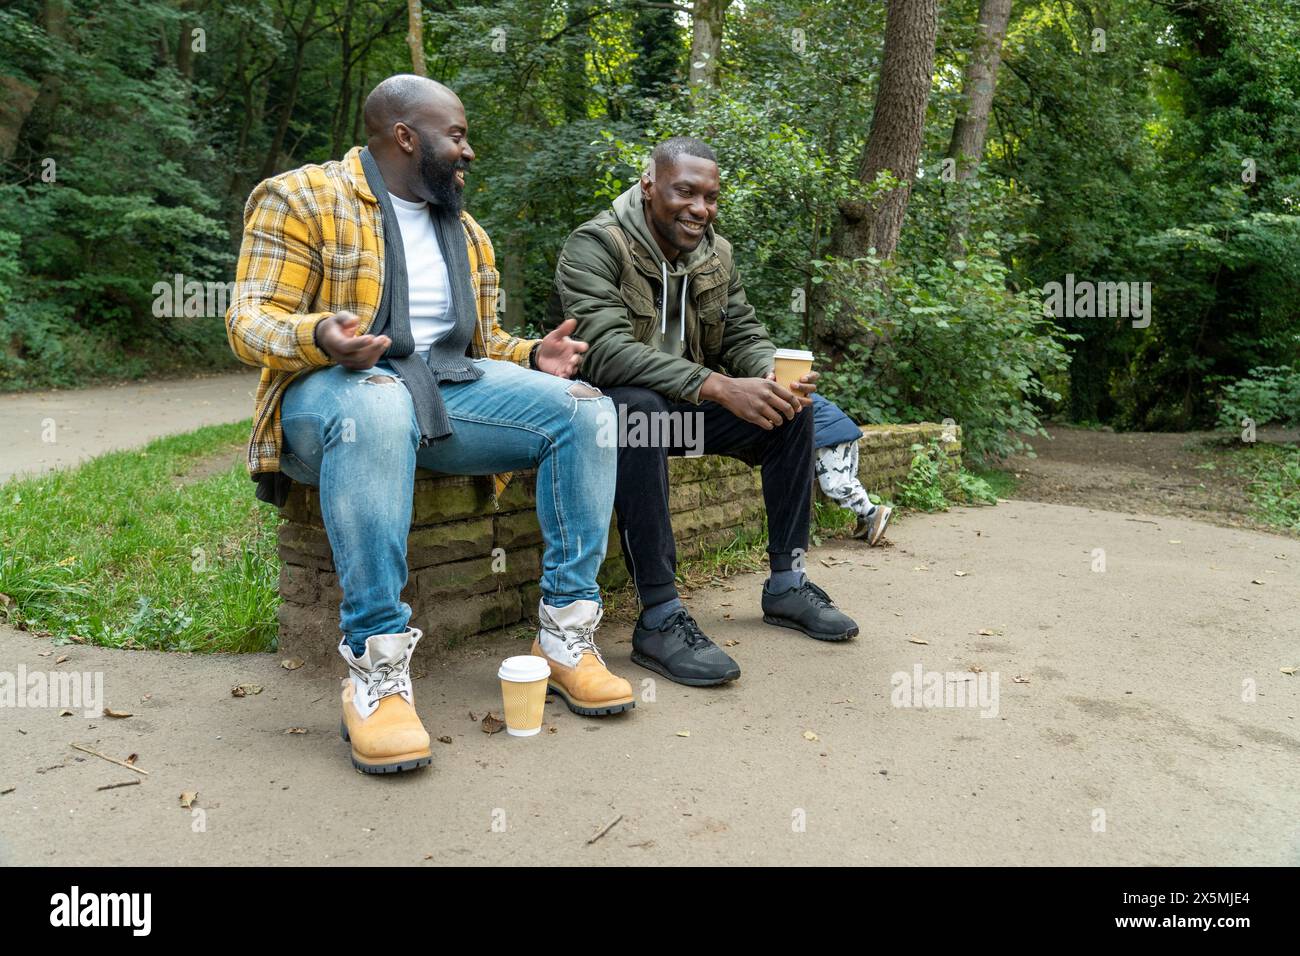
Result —
[{"label": "olive green jacket worn over a grey-green hoodie", "polygon": [[[660,351],[664,272],[685,281],[682,355]],[[677,308],[677,303],[672,303]],[[641,186],[573,230],[555,265],[555,294],[546,325],[576,319],[573,333],[588,343],[582,377],[597,386],[637,385],[671,402],[699,402],[711,371],[762,377],[776,351],[745,298],[727,239],[705,230],[690,254],[664,260],[642,212]],[[676,332],[676,329],[675,329]]]}]

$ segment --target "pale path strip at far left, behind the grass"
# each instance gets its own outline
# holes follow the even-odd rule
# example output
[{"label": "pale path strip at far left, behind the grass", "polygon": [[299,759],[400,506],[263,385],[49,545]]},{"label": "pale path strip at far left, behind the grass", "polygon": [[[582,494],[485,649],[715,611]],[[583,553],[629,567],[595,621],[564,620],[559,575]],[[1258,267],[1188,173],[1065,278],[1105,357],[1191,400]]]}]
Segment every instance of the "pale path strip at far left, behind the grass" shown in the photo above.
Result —
[{"label": "pale path strip at far left, behind the grass", "polygon": [[252,416],[257,372],[0,395],[0,481]]}]

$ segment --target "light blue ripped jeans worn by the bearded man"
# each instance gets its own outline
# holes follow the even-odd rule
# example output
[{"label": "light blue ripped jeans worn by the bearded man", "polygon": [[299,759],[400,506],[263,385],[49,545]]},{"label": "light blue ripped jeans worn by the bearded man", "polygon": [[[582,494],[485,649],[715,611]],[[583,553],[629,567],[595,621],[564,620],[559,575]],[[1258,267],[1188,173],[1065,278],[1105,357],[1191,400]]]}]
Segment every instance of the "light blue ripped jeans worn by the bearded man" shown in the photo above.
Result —
[{"label": "light blue ripped jeans worn by the bearded man", "polygon": [[[618,449],[598,441],[612,403],[581,381],[477,359],[476,381],[441,386],[452,433],[419,447],[411,393],[385,364],[303,376],[281,406],[281,468],[320,488],[343,602],[339,627],[358,652],[411,619],[407,533],[416,466],[451,475],[537,468],[542,600],[599,601]],[[604,445],[604,446],[602,446]]]}]

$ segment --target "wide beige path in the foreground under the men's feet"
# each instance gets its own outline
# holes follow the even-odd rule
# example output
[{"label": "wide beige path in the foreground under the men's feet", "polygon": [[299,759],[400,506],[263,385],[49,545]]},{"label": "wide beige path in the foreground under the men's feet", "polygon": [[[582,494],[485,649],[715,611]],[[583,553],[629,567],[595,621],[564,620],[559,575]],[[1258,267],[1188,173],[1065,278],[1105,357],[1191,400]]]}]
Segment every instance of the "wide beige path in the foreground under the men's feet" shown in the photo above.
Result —
[{"label": "wide beige path in the foreground under the men's feet", "polygon": [[[1019,501],[892,537],[812,555],[863,626],[844,645],[762,624],[754,575],[693,594],[734,685],[642,684],[602,628],[654,688],[619,718],[547,705],[554,734],[488,736],[469,713],[524,646],[463,648],[416,680],[451,743],[395,778],[348,766],[334,675],[0,631],[4,670],[100,672],[134,714],[0,708],[0,864],[1300,864],[1300,548]],[[997,715],[894,706],[918,666],[996,674]]]}]

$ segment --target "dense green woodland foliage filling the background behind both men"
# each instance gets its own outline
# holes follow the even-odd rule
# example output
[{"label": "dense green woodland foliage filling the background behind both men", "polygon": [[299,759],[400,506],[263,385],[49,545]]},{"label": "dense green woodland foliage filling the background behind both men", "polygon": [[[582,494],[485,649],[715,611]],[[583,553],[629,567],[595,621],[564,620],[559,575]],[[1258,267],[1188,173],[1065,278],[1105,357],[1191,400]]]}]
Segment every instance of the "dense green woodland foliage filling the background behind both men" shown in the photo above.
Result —
[{"label": "dense green woodland foliage filling the background behind both men", "polygon": [[[66,4],[52,35],[56,7],[0,10],[0,73],[46,91],[0,181],[0,389],[231,364],[218,316],[155,317],[151,289],[231,278],[252,186],[364,142],[365,94],[410,69],[404,5],[103,0]],[[469,117],[467,203],[497,247],[506,323],[540,328],[566,235],[634,181],[650,143],[692,133],[719,153],[718,225],[750,299],[777,345],[811,343],[818,280],[842,278],[826,265],[840,204],[872,191],[857,178],[885,9],[732,4],[720,87],[688,90],[675,10],[425,4],[429,73]],[[923,174],[892,260],[845,267],[862,272],[840,300],[862,333],[832,388],[857,414],[958,419],[996,458],[1044,415],[1208,423],[1217,382],[1296,367],[1300,0],[1018,0],[984,161],[952,182],[978,9],[942,7]],[[1066,273],[1150,281],[1150,326],[1031,329],[1030,290]],[[902,345],[874,338],[893,330]],[[970,349],[952,341],[967,334]]]}]

